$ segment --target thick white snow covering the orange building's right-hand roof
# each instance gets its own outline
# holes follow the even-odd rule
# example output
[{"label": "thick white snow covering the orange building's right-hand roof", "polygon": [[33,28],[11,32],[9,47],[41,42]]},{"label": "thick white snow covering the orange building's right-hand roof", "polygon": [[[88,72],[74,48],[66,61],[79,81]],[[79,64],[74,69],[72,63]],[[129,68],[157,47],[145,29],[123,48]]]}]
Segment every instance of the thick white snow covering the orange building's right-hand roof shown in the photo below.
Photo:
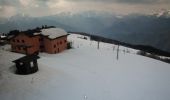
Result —
[{"label": "thick white snow covering the orange building's right-hand roof", "polygon": [[67,35],[67,32],[61,28],[49,28],[49,29],[42,29],[41,34],[44,36],[48,36],[50,39],[54,39],[60,36]]}]

